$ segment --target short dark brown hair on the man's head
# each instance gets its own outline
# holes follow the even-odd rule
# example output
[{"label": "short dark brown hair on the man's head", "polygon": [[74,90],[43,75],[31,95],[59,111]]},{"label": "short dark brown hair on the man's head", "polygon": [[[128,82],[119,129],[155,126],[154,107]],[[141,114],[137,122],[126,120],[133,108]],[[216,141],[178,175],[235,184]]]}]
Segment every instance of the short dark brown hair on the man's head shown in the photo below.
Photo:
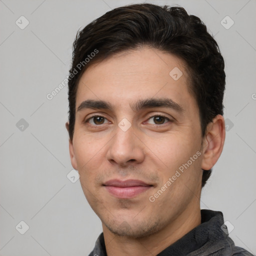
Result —
[{"label": "short dark brown hair on the man's head", "polygon": [[[141,46],[171,53],[185,62],[189,91],[199,107],[202,136],[207,124],[217,114],[223,115],[224,60],[205,24],[182,7],[132,4],[106,12],[76,34],[68,77],[71,140],[76,91],[82,73],[95,61]],[[202,187],[210,174],[211,169],[203,170]]]}]

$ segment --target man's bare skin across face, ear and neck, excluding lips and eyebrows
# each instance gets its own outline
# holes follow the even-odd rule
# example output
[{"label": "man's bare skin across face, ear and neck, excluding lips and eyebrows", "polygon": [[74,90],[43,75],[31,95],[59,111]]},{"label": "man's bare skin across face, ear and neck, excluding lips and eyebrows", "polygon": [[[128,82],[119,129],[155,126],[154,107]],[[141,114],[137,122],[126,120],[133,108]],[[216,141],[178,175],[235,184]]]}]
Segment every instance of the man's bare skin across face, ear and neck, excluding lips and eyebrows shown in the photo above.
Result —
[{"label": "man's bare skin across face, ear and neck, excluding lips and eyebrows", "polygon": [[[144,47],[92,64],[79,80],[76,109],[86,99],[112,106],[76,111],[69,139],[71,164],[102,221],[107,255],[156,255],[201,223],[202,169],[210,169],[221,154],[224,119],[217,115],[201,136],[199,109],[188,91],[184,64],[174,55]],[[174,67],[183,73],[178,80],[169,75]],[[131,107],[139,99],[163,97],[183,111]],[[90,118],[93,114],[104,118]],[[152,117],[159,114],[170,121]],[[118,126],[123,118],[131,124],[126,131]],[[151,202],[149,196],[196,152],[200,156]],[[113,178],[139,179],[152,186],[133,198],[116,198],[102,185]]]}]

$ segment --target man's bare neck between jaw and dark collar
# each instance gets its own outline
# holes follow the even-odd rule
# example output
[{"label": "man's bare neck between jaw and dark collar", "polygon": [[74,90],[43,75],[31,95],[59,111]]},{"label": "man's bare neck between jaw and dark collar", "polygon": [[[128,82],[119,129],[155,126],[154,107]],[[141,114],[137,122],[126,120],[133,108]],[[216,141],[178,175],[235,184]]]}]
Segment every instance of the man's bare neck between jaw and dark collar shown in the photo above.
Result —
[{"label": "man's bare neck between jaw and dark collar", "polygon": [[106,252],[111,256],[157,255],[200,223],[199,204],[196,207],[193,206],[193,209],[187,207],[164,228],[141,238],[115,235],[102,223]]}]

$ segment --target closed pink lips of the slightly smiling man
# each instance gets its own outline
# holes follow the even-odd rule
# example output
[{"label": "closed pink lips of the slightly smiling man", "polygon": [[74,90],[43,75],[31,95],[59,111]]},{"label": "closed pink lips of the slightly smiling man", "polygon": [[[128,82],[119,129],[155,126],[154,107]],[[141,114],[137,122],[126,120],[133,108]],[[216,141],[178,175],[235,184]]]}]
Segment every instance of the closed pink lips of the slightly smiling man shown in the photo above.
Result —
[{"label": "closed pink lips of the slightly smiling man", "polygon": [[111,179],[103,184],[106,190],[117,198],[132,198],[150,189],[151,184],[138,179]]}]

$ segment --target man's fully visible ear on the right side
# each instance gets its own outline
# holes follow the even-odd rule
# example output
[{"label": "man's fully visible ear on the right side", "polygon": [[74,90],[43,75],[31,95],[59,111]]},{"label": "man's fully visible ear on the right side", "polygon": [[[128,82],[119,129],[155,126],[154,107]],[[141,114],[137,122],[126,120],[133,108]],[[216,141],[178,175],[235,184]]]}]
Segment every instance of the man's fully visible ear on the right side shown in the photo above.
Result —
[{"label": "man's fully visible ear on the right side", "polygon": [[224,140],[224,117],[218,114],[206,127],[205,136],[203,138],[203,158],[201,169],[209,170],[216,163],[222,152]]}]

